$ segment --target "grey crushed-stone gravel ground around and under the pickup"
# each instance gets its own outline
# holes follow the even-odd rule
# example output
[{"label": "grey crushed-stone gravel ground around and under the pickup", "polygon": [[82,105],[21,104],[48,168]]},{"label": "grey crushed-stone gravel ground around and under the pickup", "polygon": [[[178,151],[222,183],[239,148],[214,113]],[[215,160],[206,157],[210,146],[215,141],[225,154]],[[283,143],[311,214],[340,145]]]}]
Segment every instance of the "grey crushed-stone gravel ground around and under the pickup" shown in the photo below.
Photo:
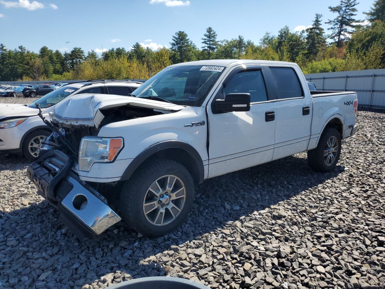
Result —
[{"label": "grey crushed-stone gravel ground around and under the pickup", "polygon": [[336,170],[316,173],[301,153],[207,180],[186,222],[154,239],[118,223],[77,240],[28,182],[27,161],[0,154],[0,287],[168,275],[211,288],[384,288],[385,111],[359,111],[358,124]]}]

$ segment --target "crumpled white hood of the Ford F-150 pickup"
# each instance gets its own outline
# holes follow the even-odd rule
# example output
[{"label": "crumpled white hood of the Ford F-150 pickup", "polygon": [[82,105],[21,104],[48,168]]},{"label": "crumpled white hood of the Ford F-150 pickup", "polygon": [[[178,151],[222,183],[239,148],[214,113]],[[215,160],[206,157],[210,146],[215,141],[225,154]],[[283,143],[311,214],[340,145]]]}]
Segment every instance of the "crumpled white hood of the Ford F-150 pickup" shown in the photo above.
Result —
[{"label": "crumpled white hood of the Ford F-150 pickup", "polygon": [[52,119],[58,123],[99,127],[103,119],[101,109],[132,106],[158,109],[163,111],[180,111],[184,106],[168,102],[155,101],[131,96],[110,94],[78,94],[55,106]]}]

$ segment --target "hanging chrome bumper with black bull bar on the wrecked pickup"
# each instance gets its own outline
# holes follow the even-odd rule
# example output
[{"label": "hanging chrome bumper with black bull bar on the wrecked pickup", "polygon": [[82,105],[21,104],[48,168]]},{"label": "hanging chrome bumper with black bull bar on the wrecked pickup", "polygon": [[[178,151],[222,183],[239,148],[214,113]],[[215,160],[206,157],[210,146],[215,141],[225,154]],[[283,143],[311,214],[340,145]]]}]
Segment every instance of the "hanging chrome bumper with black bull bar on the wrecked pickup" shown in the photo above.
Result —
[{"label": "hanging chrome bumper with black bull bar on the wrecked pickup", "polygon": [[106,199],[71,171],[61,151],[49,151],[27,169],[28,178],[60,212],[60,219],[78,237],[95,237],[121,220]]}]

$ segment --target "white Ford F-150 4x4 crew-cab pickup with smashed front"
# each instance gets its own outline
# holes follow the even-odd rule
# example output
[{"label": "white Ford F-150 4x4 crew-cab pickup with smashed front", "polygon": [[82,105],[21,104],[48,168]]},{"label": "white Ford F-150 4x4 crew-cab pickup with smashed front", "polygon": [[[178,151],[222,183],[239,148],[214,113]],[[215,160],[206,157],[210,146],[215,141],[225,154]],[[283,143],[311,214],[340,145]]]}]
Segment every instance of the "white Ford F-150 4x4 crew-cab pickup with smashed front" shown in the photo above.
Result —
[{"label": "white Ford F-150 4x4 crew-cab pickup with smashed front", "polygon": [[28,176],[80,236],[121,220],[97,183],[119,190],[118,212],[133,229],[163,235],[205,179],[302,151],[311,168],[330,171],[357,129],[355,92],[310,92],[289,62],[176,64],[133,94],[79,94],[45,120],[54,133]]}]

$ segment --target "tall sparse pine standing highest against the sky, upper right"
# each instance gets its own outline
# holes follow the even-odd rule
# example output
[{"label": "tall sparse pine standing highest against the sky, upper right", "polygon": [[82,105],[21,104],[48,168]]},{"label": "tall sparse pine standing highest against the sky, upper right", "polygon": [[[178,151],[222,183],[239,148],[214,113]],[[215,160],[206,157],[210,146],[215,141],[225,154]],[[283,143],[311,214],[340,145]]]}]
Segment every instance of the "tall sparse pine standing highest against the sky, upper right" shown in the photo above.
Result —
[{"label": "tall sparse pine standing highest against the sky, upper right", "polygon": [[328,28],[331,30],[329,38],[336,40],[337,47],[341,47],[346,35],[352,34],[352,29],[357,27],[353,23],[360,22],[360,20],[353,18],[357,15],[355,7],[358,4],[357,0],[341,0],[339,5],[328,7],[331,12],[338,13],[336,18],[328,19],[328,22],[325,22],[325,24],[331,24],[331,27]]}]

